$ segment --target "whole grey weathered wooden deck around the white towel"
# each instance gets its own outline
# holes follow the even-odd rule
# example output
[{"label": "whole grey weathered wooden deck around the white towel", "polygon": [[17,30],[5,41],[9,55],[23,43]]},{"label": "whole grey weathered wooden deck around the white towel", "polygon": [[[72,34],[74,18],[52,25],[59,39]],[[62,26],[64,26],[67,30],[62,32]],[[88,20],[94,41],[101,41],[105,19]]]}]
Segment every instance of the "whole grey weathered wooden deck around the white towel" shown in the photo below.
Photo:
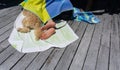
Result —
[{"label": "whole grey weathered wooden deck around the white towel", "polygon": [[100,24],[68,21],[79,39],[66,48],[20,53],[8,42],[17,6],[0,10],[0,70],[120,70],[120,14],[96,15]]}]

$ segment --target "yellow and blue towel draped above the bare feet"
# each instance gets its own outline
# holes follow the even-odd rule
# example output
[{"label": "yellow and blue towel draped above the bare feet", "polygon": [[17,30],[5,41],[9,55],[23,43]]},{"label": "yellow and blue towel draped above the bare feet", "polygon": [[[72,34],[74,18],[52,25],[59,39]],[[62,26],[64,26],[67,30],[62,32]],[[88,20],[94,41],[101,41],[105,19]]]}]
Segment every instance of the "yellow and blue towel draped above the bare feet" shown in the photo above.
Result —
[{"label": "yellow and blue towel draped above the bare feet", "polygon": [[70,0],[24,0],[20,5],[36,14],[44,23],[63,11],[73,9]]}]

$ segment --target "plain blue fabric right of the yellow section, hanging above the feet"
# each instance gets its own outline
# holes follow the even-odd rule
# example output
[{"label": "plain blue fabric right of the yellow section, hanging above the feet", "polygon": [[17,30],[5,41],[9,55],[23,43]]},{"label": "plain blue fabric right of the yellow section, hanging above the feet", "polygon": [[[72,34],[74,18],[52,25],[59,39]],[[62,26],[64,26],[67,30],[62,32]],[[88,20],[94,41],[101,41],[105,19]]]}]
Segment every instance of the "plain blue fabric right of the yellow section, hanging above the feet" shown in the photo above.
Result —
[{"label": "plain blue fabric right of the yellow section, hanging above the feet", "polygon": [[59,15],[61,12],[73,10],[70,0],[46,0],[46,9],[51,18]]}]

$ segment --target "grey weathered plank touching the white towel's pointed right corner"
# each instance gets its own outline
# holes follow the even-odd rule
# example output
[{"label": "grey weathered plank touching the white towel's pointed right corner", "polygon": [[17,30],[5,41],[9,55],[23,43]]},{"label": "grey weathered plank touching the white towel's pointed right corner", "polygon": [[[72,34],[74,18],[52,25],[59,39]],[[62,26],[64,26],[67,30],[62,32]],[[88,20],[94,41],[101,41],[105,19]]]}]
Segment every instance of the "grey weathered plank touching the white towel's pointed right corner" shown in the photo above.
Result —
[{"label": "grey weathered plank touching the white towel's pointed right corner", "polygon": [[[73,23],[73,25],[76,25],[76,23]],[[74,42],[73,44],[70,44],[66,48],[64,54],[62,55],[61,59],[59,60],[59,62],[57,64],[55,70],[68,70],[69,69],[71,61],[72,61],[72,59],[76,53],[76,50],[78,48],[79,42],[81,41],[81,38],[86,29],[86,25],[87,25],[86,23],[79,23],[79,25],[76,25],[76,26],[78,26],[77,30],[76,30],[76,34],[79,36],[79,39],[76,42]]]}]

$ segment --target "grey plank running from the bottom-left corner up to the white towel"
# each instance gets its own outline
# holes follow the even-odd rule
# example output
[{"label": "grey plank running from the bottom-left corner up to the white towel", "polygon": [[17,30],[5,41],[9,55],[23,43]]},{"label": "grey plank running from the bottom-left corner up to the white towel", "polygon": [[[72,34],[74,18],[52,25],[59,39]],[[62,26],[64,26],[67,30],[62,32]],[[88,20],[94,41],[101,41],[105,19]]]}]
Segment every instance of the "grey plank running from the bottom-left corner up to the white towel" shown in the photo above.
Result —
[{"label": "grey plank running from the bottom-left corner up to the white towel", "polygon": [[24,56],[24,53],[20,53],[16,51],[13,53],[5,62],[3,62],[0,65],[0,70],[10,70],[11,67],[14,66],[14,64],[17,64],[17,62]]}]

